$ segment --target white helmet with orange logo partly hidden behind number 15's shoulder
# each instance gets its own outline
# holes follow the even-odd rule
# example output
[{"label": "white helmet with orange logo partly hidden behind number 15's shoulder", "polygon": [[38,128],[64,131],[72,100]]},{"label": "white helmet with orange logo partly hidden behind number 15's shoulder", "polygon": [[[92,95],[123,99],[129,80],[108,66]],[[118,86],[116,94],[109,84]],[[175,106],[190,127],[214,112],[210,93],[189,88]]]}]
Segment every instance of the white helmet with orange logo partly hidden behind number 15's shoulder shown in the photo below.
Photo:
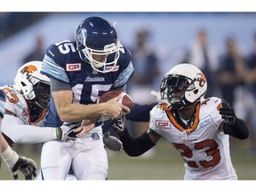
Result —
[{"label": "white helmet with orange logo partly hidden behind number 15's shoulder", "polygon": [[50,100],[50,79],[40,73],[41,61],[22,65],[14,78],[13,87],[28,101],[31,109],[47,110]]}]

